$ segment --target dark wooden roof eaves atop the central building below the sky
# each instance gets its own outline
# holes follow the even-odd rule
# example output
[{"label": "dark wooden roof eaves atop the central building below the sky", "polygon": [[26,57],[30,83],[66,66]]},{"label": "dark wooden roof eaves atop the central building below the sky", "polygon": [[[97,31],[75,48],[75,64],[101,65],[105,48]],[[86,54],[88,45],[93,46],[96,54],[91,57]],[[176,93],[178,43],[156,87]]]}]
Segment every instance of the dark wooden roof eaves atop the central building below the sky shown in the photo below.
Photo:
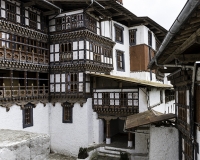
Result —
[{"label": "dark wooden roof eaves atop the central building below the sky", "polygon": [[162,42],[167,33],[165,28],[149,17],[137,17],[116,0],[53,0],[53,3],[64,11],[84,9],[85,12],[100,17],[101,21],[114,20],[128,27],[145,25],[154,32],[159,42]]}]

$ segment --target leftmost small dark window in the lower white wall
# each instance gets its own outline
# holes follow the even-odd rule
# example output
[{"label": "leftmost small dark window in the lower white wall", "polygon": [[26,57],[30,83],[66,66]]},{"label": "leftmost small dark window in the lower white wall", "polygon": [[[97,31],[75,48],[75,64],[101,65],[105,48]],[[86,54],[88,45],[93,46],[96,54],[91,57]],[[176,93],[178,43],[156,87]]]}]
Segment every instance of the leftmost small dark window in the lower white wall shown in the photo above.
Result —
[{"label": "leftmost small dark window in the lower white wall", "polygon": [[23,128],[33,126],[33,107],[34,105],[28,103],[24,106],[23,114]]}]

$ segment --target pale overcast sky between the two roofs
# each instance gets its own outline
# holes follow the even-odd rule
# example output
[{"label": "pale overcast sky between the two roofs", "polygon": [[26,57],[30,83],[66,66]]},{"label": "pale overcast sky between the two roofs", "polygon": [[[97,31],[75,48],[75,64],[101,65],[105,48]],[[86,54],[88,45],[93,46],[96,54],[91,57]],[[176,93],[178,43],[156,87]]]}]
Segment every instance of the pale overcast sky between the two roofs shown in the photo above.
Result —
[{"label": "pale overcast sky between the two roofs", "polygon": [[138,17],[148,16],[169,29],[187,0],[123,0],[123,5]]}]

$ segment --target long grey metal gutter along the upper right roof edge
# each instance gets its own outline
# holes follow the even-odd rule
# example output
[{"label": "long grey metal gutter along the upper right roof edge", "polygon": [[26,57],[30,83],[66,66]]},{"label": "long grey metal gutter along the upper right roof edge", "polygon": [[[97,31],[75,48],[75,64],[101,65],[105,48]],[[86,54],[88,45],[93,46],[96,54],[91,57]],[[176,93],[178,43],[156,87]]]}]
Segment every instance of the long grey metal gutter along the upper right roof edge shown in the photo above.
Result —
[{"label": "long grey metal gutter along the upper right roof edge", "polygon": [[176,35],[176,33],[180,30],[181,25],[186,21],[188,16],[192,13],[192,11],[199,5],[199,0],[188,0],[182,9],[181,13],[178,15],[171,28],[169,29],[167,35],[165,36],[161,46],[159,47],[155,57],[149,63],[148,68],[151,68],[153,63],[157,60],[157,58],[162,54],[166,46],[169,44],[170,40]]}]

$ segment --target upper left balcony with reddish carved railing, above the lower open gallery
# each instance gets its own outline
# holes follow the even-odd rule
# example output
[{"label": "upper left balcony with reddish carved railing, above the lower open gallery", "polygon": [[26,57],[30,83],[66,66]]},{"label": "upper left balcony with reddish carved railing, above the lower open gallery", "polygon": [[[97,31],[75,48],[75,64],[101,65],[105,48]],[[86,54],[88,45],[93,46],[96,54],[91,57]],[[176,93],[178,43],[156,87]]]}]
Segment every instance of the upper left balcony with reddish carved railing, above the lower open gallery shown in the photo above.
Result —
[{"label": "upper left balcony with reddish carved railing, above the lower open gallery", "polygon": [[49,63],[48,45],[31,38],[0,32],[0,61],[46,66],[47,69]]}]

